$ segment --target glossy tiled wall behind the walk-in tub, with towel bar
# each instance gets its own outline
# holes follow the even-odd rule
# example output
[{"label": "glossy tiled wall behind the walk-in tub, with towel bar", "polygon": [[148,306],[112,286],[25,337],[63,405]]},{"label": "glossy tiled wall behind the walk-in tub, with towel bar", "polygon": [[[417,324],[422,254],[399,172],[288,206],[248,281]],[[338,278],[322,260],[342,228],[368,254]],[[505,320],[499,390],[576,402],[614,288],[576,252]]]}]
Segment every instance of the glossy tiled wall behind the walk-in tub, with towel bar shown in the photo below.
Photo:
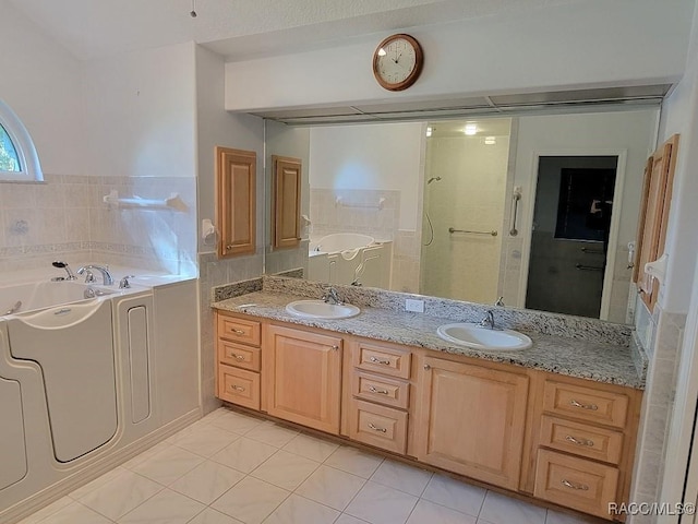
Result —
[{"label": "glossy tiled wall behind the walk-in tub, with towel bar", "polygon": [[[165,199],[185,211],[116,209],[120,195]],[[184,177],[46,175],[44,183],[0,183],[0,271],[49,267],[61,259],[196,274],[196,180]]]}]

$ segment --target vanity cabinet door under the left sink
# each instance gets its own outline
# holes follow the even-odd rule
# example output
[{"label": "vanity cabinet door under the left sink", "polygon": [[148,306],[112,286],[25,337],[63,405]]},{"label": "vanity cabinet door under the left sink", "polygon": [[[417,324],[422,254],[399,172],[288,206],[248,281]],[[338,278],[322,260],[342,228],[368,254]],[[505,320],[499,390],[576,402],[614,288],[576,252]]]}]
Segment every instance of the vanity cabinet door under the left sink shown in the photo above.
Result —
[{"label": "vanity cabinet door under the left sink", "polygon": [[267,413],[339,434],[341,338],[268,325],[262,353]]}]

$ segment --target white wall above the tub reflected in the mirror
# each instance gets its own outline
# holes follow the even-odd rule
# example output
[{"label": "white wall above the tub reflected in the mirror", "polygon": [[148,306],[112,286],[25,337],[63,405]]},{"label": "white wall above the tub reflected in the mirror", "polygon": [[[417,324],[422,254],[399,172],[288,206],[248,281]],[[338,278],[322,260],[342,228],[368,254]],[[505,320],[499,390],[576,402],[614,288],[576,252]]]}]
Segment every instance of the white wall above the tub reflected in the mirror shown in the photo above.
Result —
[{"label": "white wall above the tub reflected in the mirror", "polygon": [[416,230],[424,128],[420,122],[312,128],[313,189],[399,190],[400,229]]}]

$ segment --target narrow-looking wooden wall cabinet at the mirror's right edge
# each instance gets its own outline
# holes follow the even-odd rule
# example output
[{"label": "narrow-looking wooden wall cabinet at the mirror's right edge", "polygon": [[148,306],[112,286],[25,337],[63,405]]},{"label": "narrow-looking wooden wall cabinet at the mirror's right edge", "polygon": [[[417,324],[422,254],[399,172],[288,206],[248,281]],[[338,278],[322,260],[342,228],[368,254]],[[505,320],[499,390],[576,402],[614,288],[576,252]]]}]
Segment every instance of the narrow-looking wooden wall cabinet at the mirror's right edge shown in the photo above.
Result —
[{"label": "narrow-looking wooden wall cabinet at the mirror's right edge", "polygon": [[659,283],[645,273],[645,264],[664,252],[677,150],[678,135],[675,134],[649,157],[645,169],[633,281],[650,311],[654,309]]}]

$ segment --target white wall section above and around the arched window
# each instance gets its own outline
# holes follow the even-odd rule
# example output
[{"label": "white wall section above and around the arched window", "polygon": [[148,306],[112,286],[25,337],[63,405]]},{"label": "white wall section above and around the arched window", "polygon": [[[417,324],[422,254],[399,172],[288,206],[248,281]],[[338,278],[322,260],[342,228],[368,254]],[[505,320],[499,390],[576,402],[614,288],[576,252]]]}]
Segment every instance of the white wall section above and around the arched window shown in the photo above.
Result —
[{"label": "white wall section above and around the arched window", "polygon": [[0,0],[0,98],[27,128],[45,174],[84,172],[81,62]]}]

